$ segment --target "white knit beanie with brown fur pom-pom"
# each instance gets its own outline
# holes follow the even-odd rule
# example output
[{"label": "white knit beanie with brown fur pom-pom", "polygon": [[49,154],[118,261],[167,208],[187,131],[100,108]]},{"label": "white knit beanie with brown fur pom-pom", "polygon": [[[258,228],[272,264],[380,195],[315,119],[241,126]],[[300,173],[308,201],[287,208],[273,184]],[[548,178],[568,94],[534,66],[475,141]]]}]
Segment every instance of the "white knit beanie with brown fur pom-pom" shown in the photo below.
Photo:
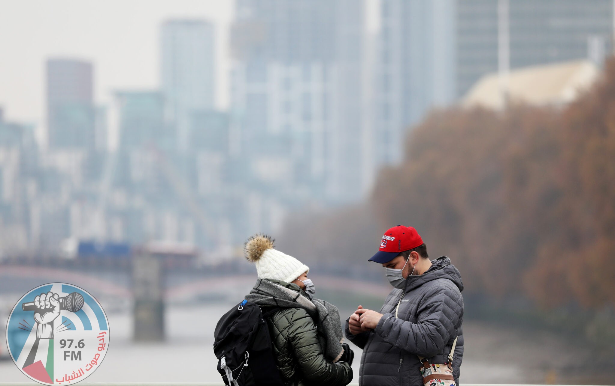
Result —
[{"label": "white knit beanie with brown fur pom-pom", "polygon": [[274,279],[290,283],[303,272],[309,272],[306,264],[275,250],[274,241],[264,234],[255,234],[245,242],[245,258],[256,264],[258,279]]}]

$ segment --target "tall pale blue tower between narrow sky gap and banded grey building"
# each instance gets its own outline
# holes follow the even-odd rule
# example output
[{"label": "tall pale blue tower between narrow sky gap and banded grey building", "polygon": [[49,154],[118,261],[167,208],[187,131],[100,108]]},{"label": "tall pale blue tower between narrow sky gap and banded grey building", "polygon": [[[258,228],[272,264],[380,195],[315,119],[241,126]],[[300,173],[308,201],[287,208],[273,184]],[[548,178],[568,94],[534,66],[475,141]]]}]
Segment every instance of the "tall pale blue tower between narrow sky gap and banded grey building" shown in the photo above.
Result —
[{"label": "tall pale blue tower between narrow sky gap and banded grey building", "polygon": [[379,2],[373,136],[375,163],[399,163],[408,126],[455,100],[456,1]]}]

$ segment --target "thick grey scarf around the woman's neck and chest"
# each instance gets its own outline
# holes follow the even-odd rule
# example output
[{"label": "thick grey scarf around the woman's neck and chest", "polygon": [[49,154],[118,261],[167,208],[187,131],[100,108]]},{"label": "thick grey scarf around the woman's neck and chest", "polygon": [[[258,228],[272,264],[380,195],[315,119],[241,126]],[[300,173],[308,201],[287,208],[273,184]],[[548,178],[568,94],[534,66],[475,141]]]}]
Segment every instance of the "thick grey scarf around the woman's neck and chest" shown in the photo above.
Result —
[{"label": "thick grey scarf around the woman's neck and chest", "polygon": [[[344,333],[339,322],[339,311],[331,303],[321,299],[310,299],[285,287],[286,282],[258,279],[252,291],[245,296],[247,301],[259,306],[277,306],[282,308],[301,308],[317,321],[318,339],[325,353],[325,358],[335,363],[344,353],[341,342]],[[323,332],[323,334],[320,333]]]}]

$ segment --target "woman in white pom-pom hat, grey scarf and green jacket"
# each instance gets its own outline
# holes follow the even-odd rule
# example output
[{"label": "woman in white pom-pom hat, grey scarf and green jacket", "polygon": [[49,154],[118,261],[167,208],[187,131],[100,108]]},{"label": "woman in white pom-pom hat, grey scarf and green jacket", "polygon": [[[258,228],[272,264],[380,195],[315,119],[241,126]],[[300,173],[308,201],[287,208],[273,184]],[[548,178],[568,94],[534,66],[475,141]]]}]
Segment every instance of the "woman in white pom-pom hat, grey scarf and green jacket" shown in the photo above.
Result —
[{"label": "woman in white pom-pom hat, grey scarf and green jacket", "polygon": [[256,264],[258,280],[247,301],[261,306],[286,385],[347,385],[354,353],[342,344],[338,309],[314,298],[309,267],[274,249],[274,240],[257,234],[245,243],[245,257]]}]

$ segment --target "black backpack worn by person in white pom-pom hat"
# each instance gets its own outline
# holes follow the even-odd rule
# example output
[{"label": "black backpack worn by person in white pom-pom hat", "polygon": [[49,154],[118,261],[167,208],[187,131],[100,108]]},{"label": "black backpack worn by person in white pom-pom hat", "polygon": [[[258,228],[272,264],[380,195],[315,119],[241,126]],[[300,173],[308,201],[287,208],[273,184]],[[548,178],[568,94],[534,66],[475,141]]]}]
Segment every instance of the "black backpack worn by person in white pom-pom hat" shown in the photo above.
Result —
[{"label": "black backpack worn by person in white pom-pom hat", "polygon": [[279,308],[261,308],[247,300],[224,314],[214,332],[218,372],[228,386],[282,386],[271,336],[264,318]]}]

